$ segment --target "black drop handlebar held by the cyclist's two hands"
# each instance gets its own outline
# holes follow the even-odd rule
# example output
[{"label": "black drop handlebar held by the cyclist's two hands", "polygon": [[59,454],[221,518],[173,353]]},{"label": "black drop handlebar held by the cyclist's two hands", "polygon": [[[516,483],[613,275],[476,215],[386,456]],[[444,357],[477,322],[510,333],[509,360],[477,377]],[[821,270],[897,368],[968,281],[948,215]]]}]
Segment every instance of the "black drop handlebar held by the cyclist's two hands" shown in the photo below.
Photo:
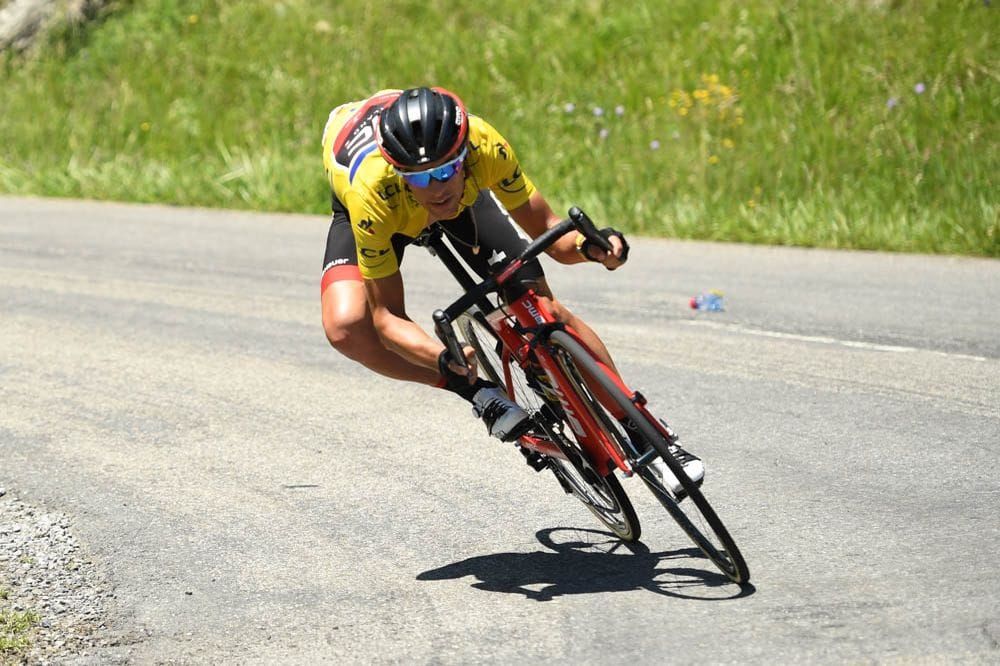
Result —
[{"label": "black drop handlebar held by the cyclist's two hands", "polygon": [[611,243],[608,242],[607,238],[601,235],[601,232],[599,232],[597,227],[594,226],[593,221],[587,217],[586,213],[576,206],[573,206],[569,209],[569,217],[562,220],[555,226],[550,227],[542,235],[529,243],[528,247],[526,247],[516,259],[507,264],[502,271],[496,275],[491,275],[479,284],[473,286],[471,289],[466,291],[465,294],[459,297],[457,301],[443,310],[438,309],[434,311],[434,314],[432,315],[434,320],[434,332],[437,334],[441,342],[444,343],[445,347],[448,348],[448,353],[455,363],[468,369],[468,365],[465,362],[465,354],[462,353],[462,345],[459,343],[458,338],[455,335],[455,329],[452,328],[452,322],[460,314],[468,310],[477,301],[486,296],[486,294],[499,291],[500,287],[503,286],[503,284],[507,282],[507,280],[509,280],[510,277],[514,275],[514,273],[516,273],[524,264],[547,250],[553,243],[556,242],[556,240],[572,229],[576,229],[578,232],[583,234],[584,238],[605,252],[611,251]]}]

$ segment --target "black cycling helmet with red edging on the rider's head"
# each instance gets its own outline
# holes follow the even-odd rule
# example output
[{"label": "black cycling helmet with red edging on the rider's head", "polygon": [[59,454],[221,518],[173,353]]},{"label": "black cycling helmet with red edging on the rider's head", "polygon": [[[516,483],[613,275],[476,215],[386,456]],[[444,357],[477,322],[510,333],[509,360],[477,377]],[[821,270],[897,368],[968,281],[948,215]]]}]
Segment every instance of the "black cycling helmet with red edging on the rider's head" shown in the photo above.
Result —
[{"label": "black cycling helmet with red edging on the rider's head", "polygon": [[469,117],[457,95],[444,88],[410,88],[382,109],[378,147],[397,167],[414,167],[451,155],[469,133]]}]

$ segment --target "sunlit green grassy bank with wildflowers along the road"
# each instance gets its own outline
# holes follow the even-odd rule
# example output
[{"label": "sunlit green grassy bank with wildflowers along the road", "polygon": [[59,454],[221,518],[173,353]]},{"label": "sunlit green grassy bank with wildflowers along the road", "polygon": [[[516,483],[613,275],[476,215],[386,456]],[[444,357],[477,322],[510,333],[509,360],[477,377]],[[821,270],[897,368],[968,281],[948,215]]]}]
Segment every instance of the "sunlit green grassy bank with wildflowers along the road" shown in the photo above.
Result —
[{"label": "sunlit green grassy bank with wildflowers along the road", "polygon": [[329,110],[425,83],[602,224],[1000,257],[993,4],[119,2],[3,57],[0,191],[326,212]]}]

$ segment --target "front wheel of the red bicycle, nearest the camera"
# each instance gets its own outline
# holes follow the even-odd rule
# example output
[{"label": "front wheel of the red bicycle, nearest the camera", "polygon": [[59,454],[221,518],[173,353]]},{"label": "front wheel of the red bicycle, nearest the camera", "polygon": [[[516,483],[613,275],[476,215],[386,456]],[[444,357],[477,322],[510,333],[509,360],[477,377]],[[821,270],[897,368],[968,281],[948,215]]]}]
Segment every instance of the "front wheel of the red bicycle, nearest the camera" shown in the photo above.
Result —
[{"label": "front wheel of the red bicycle, nearest the camera", "polygon": [[[564,331],[553,331],[548,344],[554,352],[558,353],[558,350],[564,350],[588,376],[600,383],[601,388],[639,426],[647,441],[653,445],[670,470],[680,479],[687,492],[687,499],[690,500],[684,505],[676,500],[673,494],[664,488],[648,469],[641,467],[636,470],[639,478],[643,480],[656,499],[667,510],[667,513],[705,556],[730,580],[740,584],[748,582],[750,579],[749,569],[736,542],[729,534],[729,530],[726,529],[715,509],[709,504],[700,487],[688,478],[681,464],[674,459],[668,448],[669,442],[660,429],[648,420],[647,413],[635,406],[618,384],[598,366],[590,352],[571,335]],[[609,415],[599,403],[598,407],[599,422],[607,424]],[[603,418],[600,417],[601,413],[605,415]],[[616,431],[615,434],[620,439],[621,431]],[[630,446],[629,444],[628,447]]]}]

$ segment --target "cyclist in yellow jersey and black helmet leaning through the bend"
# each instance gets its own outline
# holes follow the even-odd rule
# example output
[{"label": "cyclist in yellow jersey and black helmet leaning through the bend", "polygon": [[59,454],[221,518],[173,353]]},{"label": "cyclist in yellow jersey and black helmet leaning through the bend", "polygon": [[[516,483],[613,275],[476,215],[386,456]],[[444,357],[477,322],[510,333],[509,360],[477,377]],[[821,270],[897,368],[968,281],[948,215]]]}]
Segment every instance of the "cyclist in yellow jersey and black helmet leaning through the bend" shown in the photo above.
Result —
[{"label": "cyclist in yellow jersey and black helmet leaning through the bend", "polygon": [[[457,393],[501,440],[523,435],[530,427],[527,413],[476,376],[474,350],[464,349],[471,368],[466,373],[441,342],[407,316],[399,272],[406,246],[435,222],[485,278],[527,245],[512,222],[537,238],[560,221],[510,145],[443,88],[383,90],[333,109],[323,131],[323,164],[333,209],[321,281],[330,344],[385,376]],[[628,244],[613,229],[603,233],[612,252],[567,234],[548,253],[561,263],[593,261],[614,270],[625,263]],[[521,269],[515,283],[547,299],[555,316],[614,367],[600,338],[552,296],[537,260]],[[638,432],[624,417],[623,423],[630,434]],[[700,481],[701,461],[680,447],[676,455]],[[669,487],[680,489],[662,462],[658,470]]]}]

